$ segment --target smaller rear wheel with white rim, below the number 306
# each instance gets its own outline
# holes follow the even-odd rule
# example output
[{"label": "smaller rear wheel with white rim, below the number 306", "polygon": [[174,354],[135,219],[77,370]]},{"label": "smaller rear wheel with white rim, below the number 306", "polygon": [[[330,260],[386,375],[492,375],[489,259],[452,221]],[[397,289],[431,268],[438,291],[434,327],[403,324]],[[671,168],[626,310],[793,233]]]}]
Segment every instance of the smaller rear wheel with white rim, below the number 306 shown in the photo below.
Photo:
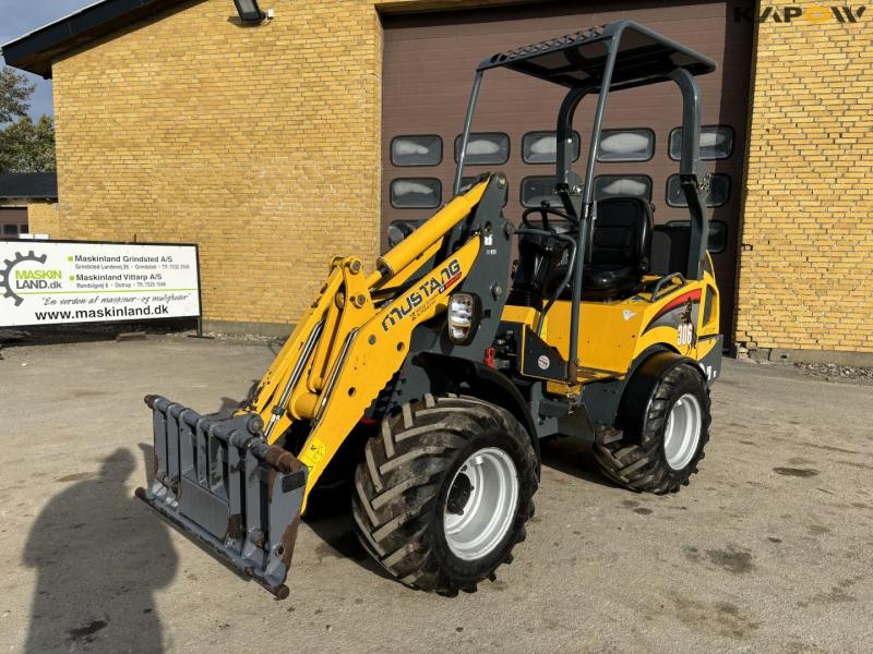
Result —
[{"label": "smaller rear wheel with white rim, below the number 306", "polygon": [[622,438],[595,445],[595,458],[623,486],[674,493],[697,472],[709,422],[706,383],[690,365],[678,365],[657,382],[645,415],[619,415]]}]

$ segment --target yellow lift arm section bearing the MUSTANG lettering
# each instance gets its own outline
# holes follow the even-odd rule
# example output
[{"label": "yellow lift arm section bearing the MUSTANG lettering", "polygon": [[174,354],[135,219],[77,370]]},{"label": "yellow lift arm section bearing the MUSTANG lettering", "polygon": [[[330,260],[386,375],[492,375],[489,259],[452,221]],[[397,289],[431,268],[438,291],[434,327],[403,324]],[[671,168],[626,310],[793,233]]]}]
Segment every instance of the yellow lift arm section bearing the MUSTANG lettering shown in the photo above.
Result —
[{"label": "yellow lift arm section bearing the MUSTANG lettering", "polygon": [[[347,296],[340,318],[333,334],[319,335],[319,339],[331,339],[335,347],[326,350],[330,373],[324,384],[309,385],[308,379],[322,367],[318,356],[312,356],[307,371],[295,378],[295,364],[306,352],[311,335],[325,324],[331,305],[336,303],[336,294],[319,301],[319,308],[307,320],[308,331],[298,336],[299,342],[285,355],[277,384],[266,379],[263,391],[254,402],[253,411],[261,415],[265,424],[274,421],[274,428],[267,435],[267,443],[275,444],[295,420],[308,420],[312,429],[298,459],[309,469],[304,497],[318,482],[322,472],[336,453],[339,446],[360,421],[380,391],[400,368],[409,350],[412,330],[426,320],[445,311],[449,291],[469,274],[480,251],[480,239],[470,238],[459,250],[440,262],[428,275],[400,293],[391,302],[376,307],[360,274],[351,272],[358,259],[344,259],[340,263]],[[328,284],[331,286],[331,284]],[[331,290],[331,289],[328,289]],[[360,304],[356,298],[363,298]],[[296,335],[297,336],[297,335]],[[297,361],[295,361],[297,358]],[[268,373],[270,375],[270,373]],[[283,402],[280,389],[291,384],[291,390]],[[318,392],[310,388],[315,386]],[[261,398],[268,396],[267,399]],[[242,413],[247,411],[243,410]],[[276,417],[274,417],[276,416]],[[306,506],[306,499],[304,499]]]}]

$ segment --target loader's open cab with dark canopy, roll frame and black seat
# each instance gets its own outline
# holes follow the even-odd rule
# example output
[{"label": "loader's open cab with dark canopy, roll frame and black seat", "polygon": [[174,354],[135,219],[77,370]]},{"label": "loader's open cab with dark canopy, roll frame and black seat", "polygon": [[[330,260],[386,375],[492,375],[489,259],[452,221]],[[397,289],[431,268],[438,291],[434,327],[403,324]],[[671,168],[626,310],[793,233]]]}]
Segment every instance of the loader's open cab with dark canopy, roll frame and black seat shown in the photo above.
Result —
[{"label": "loader's open cab with dark canopy, roll frame and black seat", "polygon": [[[689,239],[680,279],[701,279],[707,261],[708,175],[699,158],[702,101],[695,75],[716,63],[634,21],[619,21],[563,37],[499,52],[476,70],[461,140],[454,192],[464,179],[473,117],[482,76],[504,68],[567,89],[557,117],[558,157],[554,194],[560,206],[527,209],[518,230],[519,262],[509,304],[534,306],[543,314],[558,300],[570,300],[569,361],[577,360],[579,303],[626,298],[643,288],[650,272],[654,232],[651,207],[638,197],[595,202],[594,180],[603,116],[611,92],[674,83],[682,94],[682,146],[679,179],[689,209]],[[573,170],[573,118],[587,96],[596,109],[583,175]],[[539,214],[537,223],[531,216]],[[562,225],[558,228],[558,225]],[[560,229],[560,235],[559,235]],[[659,242],[662,242],[660,240]],[[671,255],[675,261],[675,253]],[[659,261],[663,256],[658,255]],[[662,281],[667,281],[666,279]],[[658,280],[648,280],[658,288]],[[653,298],[656,292],[653,291]]]}]

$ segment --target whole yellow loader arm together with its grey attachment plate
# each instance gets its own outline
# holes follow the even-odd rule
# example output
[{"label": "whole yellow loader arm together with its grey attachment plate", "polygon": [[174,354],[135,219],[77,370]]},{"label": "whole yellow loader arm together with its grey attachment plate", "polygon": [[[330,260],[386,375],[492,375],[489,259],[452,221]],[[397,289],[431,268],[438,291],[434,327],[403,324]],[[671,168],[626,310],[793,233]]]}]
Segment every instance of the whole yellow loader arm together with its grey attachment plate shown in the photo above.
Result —
[{"label": "whole yellow loader arm together with its grey attachment plate", "polygon": [[[318,298],[235,413],[201,415],[146,397],[155,474],[136,496],[234,570],[287,596],[309,493],[404,365],[415,328],[444,312],[450,291],[476,267],[483,237],[474,226],[498,223],[504,194],[502,175],[476,184],[369,275],[360,259],[335,257]],[[497,215],[485,222],[485,213]],[[295,422],[309,429],[297,452],[283,440]]]}]

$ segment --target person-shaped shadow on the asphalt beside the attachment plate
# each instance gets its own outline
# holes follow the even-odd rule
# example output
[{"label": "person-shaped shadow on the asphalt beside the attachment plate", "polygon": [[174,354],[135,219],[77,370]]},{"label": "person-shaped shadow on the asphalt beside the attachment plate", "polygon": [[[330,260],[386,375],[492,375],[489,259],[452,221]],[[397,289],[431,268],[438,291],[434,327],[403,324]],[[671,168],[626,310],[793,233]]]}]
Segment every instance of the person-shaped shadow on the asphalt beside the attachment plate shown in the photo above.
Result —
[{"label": "person-shaped shadow on the asphalt beside the attachment plate", "polygon": [[[151,446],[141,446],[146,470]],[[36,569],[25,652],[163,652],[154,591],[176,574],[167,526],[125,486],[133,455],[119,448],[97,473],[70,472],[27,538]]]}]

